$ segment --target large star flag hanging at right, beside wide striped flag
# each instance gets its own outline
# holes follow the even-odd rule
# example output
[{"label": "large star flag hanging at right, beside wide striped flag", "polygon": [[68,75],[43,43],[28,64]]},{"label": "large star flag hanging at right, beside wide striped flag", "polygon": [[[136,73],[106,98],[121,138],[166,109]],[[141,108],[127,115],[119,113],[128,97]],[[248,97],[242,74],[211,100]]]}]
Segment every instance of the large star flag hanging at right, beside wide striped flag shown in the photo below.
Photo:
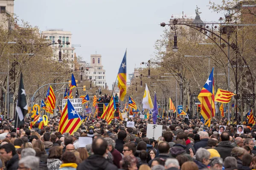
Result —
[{"label": "large star flag hanging at right, beside wide striped flag", "polygon": [[215,116],[213,69],[198,95],[198,99],[201,102],[201,115],[205,120]]}]

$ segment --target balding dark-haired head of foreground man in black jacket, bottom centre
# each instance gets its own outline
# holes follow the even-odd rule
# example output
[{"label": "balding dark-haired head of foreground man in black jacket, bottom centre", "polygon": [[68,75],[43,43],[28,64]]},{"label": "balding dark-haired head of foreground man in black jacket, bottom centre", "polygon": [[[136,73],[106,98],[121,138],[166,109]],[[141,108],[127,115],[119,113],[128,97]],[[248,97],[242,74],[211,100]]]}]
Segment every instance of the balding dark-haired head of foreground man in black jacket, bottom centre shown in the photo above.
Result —
[{"label": "balding dark-haired head of foreground man in black jacket, bottom centre", "polygon": [[103,156],[106,153],[107,148],[108,143],[103,138],[98,137],[93,140],[92,150],[94,154]]}]

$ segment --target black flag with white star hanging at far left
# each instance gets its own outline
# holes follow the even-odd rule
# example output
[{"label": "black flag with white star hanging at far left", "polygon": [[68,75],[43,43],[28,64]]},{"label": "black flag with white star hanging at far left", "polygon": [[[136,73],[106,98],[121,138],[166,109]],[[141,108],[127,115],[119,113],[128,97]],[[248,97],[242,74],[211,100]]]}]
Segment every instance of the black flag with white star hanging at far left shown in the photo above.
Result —
[{"label": "black flag with white star hanging at far left", "polygon": [[18,98],[17,98],[17,103],[16,103],[15,127],[24,125],[24,123],[25,123],[24,117],[25,117],[26,113],[28,113],[28,105],[26,103],[26,93],[24,90],[22,73],[20,73],[20,87],[19,87]]}]

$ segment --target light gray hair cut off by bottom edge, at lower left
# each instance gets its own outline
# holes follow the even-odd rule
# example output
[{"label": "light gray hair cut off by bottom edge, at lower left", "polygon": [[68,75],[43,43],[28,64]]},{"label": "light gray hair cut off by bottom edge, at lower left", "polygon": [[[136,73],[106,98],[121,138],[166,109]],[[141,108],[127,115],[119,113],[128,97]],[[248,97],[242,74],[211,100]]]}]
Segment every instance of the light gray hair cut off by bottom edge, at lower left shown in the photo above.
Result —
[{"label": "light gray hair cut off by bottom edge, at lower left", "polygon": [[19,165],[23,164],[24,167],[29,168],[31,170],[39,169],[39,158],[36,156],[26,156],[21,158],[19,161]]}]

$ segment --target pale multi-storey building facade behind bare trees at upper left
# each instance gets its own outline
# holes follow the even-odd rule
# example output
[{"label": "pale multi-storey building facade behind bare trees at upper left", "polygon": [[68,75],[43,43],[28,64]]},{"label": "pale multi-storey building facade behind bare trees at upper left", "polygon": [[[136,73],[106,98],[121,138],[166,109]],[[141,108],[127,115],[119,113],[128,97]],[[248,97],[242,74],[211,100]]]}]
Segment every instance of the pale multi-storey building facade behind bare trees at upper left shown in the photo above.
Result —
[{"label": "pale multi-storey building facade behind bare trees at upper left", "polygon": [[[52,43],[61,40],[63,46],[61,48],[61,57],[63,60],[67,62],[74,62],[75,59],[75,48],[72,47],[72,34],[70,31],[63,31],[63,29],[47,29],[47,31],[43,31],[42,34],[44,35],[45,39],[49,40]],[[64,43],[70,42],[70,45],[66,45]],[[51,45],[53,53],[53,59],[58,59],[59,48],[58,44]]]}]

